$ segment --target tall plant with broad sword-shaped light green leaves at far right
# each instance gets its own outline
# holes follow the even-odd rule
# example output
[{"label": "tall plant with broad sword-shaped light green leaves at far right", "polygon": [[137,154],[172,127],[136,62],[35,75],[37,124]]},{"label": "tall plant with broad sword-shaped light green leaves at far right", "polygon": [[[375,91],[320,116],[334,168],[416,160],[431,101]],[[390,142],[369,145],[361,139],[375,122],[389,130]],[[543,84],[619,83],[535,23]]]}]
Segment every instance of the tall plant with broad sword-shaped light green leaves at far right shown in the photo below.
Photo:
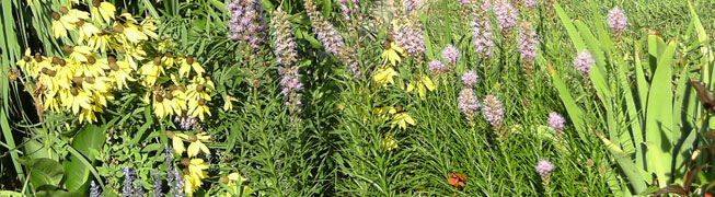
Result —
[{"label": "tall plant with broad sword-shaped light green leaves at far right", "polygon": [[[703,111],[697,107],[693,89],[687,85],[692,78],[692,65],[703,68],[699,74],[703,81],[711,81],[708,70],[712,70],[712,61],[706,59],[708,56],[703,56],[701,61],[688,59],[689,54],[696,53],[693,48],[707,51],[697,15],[691,9],[692,22],[682,37],[688,37],[695,30],[697,39],[678,51],[681,58],[673,57],[678,46],[681,46],[678,37],[666,43],[649,32],[644,39],[635,42],[633,55],[626,53],[633,57],[633,61],[626,61],[621,48],[628,39],[619,37],[614,42],[595,2],[589,0],[589,3],[596,35],[586,23],[572,21],[558,3],[554,4],[576,50],[588,50],[596,61],[586,77],[590,83],[587,86],[592,85],[600,101],[595,115],[584,113],[574,101],[573,93],[561,80],[566,72],[555,71],[552,74],[570,119],[581,134],[593,130],[612,153],[627,181],[609,182],[616,195],[643,194],[648,184],[657,187],[682,184],[685,162],[690,161],[690,152],[697,144],[699,129],[708,127],[707,121],[693,124]],[[642,62],[639,53],[644,44],[647,48],[646,62]],[[635,80],[631,76],[635,76]],[[588,125],[589,117],[596,117],[596,125]],[[606,135],[601,135],[599,129],[607,130]]]}]

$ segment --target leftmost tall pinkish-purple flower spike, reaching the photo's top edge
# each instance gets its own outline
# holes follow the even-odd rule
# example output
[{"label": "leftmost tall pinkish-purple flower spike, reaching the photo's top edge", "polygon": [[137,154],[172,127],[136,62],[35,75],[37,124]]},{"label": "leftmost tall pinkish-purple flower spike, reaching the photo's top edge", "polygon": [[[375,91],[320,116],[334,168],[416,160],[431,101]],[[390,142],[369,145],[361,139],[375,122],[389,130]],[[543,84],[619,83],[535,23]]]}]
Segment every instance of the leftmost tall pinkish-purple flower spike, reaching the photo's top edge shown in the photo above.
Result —
[{"label": "leftmost tall pinkish-purple flower spike, reaching the photo's top edge", "polygon": [[229,38],[249,45],[251,48],[258,48],[265,43],[267,27],[261,1],[234,0],[226,8],[231,13]]}]

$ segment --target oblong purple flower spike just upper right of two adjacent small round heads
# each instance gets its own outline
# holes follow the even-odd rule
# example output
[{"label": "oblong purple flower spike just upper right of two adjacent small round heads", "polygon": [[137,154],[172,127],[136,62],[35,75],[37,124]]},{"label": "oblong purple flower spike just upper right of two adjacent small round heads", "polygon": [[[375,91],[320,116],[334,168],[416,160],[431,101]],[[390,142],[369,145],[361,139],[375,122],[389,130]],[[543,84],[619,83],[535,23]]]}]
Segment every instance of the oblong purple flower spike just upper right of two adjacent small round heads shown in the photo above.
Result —
[{"label": "oblong purple flower spike just upper right of two adjacent small round heads", "polygon": [[[488,2],[488,1],[485,1]],[[475,16],[472,20],[472,44],[474,44],[474,53],[481,54],[484,57],[492,56],[492,25],[489,20],[483,16]]]}]

